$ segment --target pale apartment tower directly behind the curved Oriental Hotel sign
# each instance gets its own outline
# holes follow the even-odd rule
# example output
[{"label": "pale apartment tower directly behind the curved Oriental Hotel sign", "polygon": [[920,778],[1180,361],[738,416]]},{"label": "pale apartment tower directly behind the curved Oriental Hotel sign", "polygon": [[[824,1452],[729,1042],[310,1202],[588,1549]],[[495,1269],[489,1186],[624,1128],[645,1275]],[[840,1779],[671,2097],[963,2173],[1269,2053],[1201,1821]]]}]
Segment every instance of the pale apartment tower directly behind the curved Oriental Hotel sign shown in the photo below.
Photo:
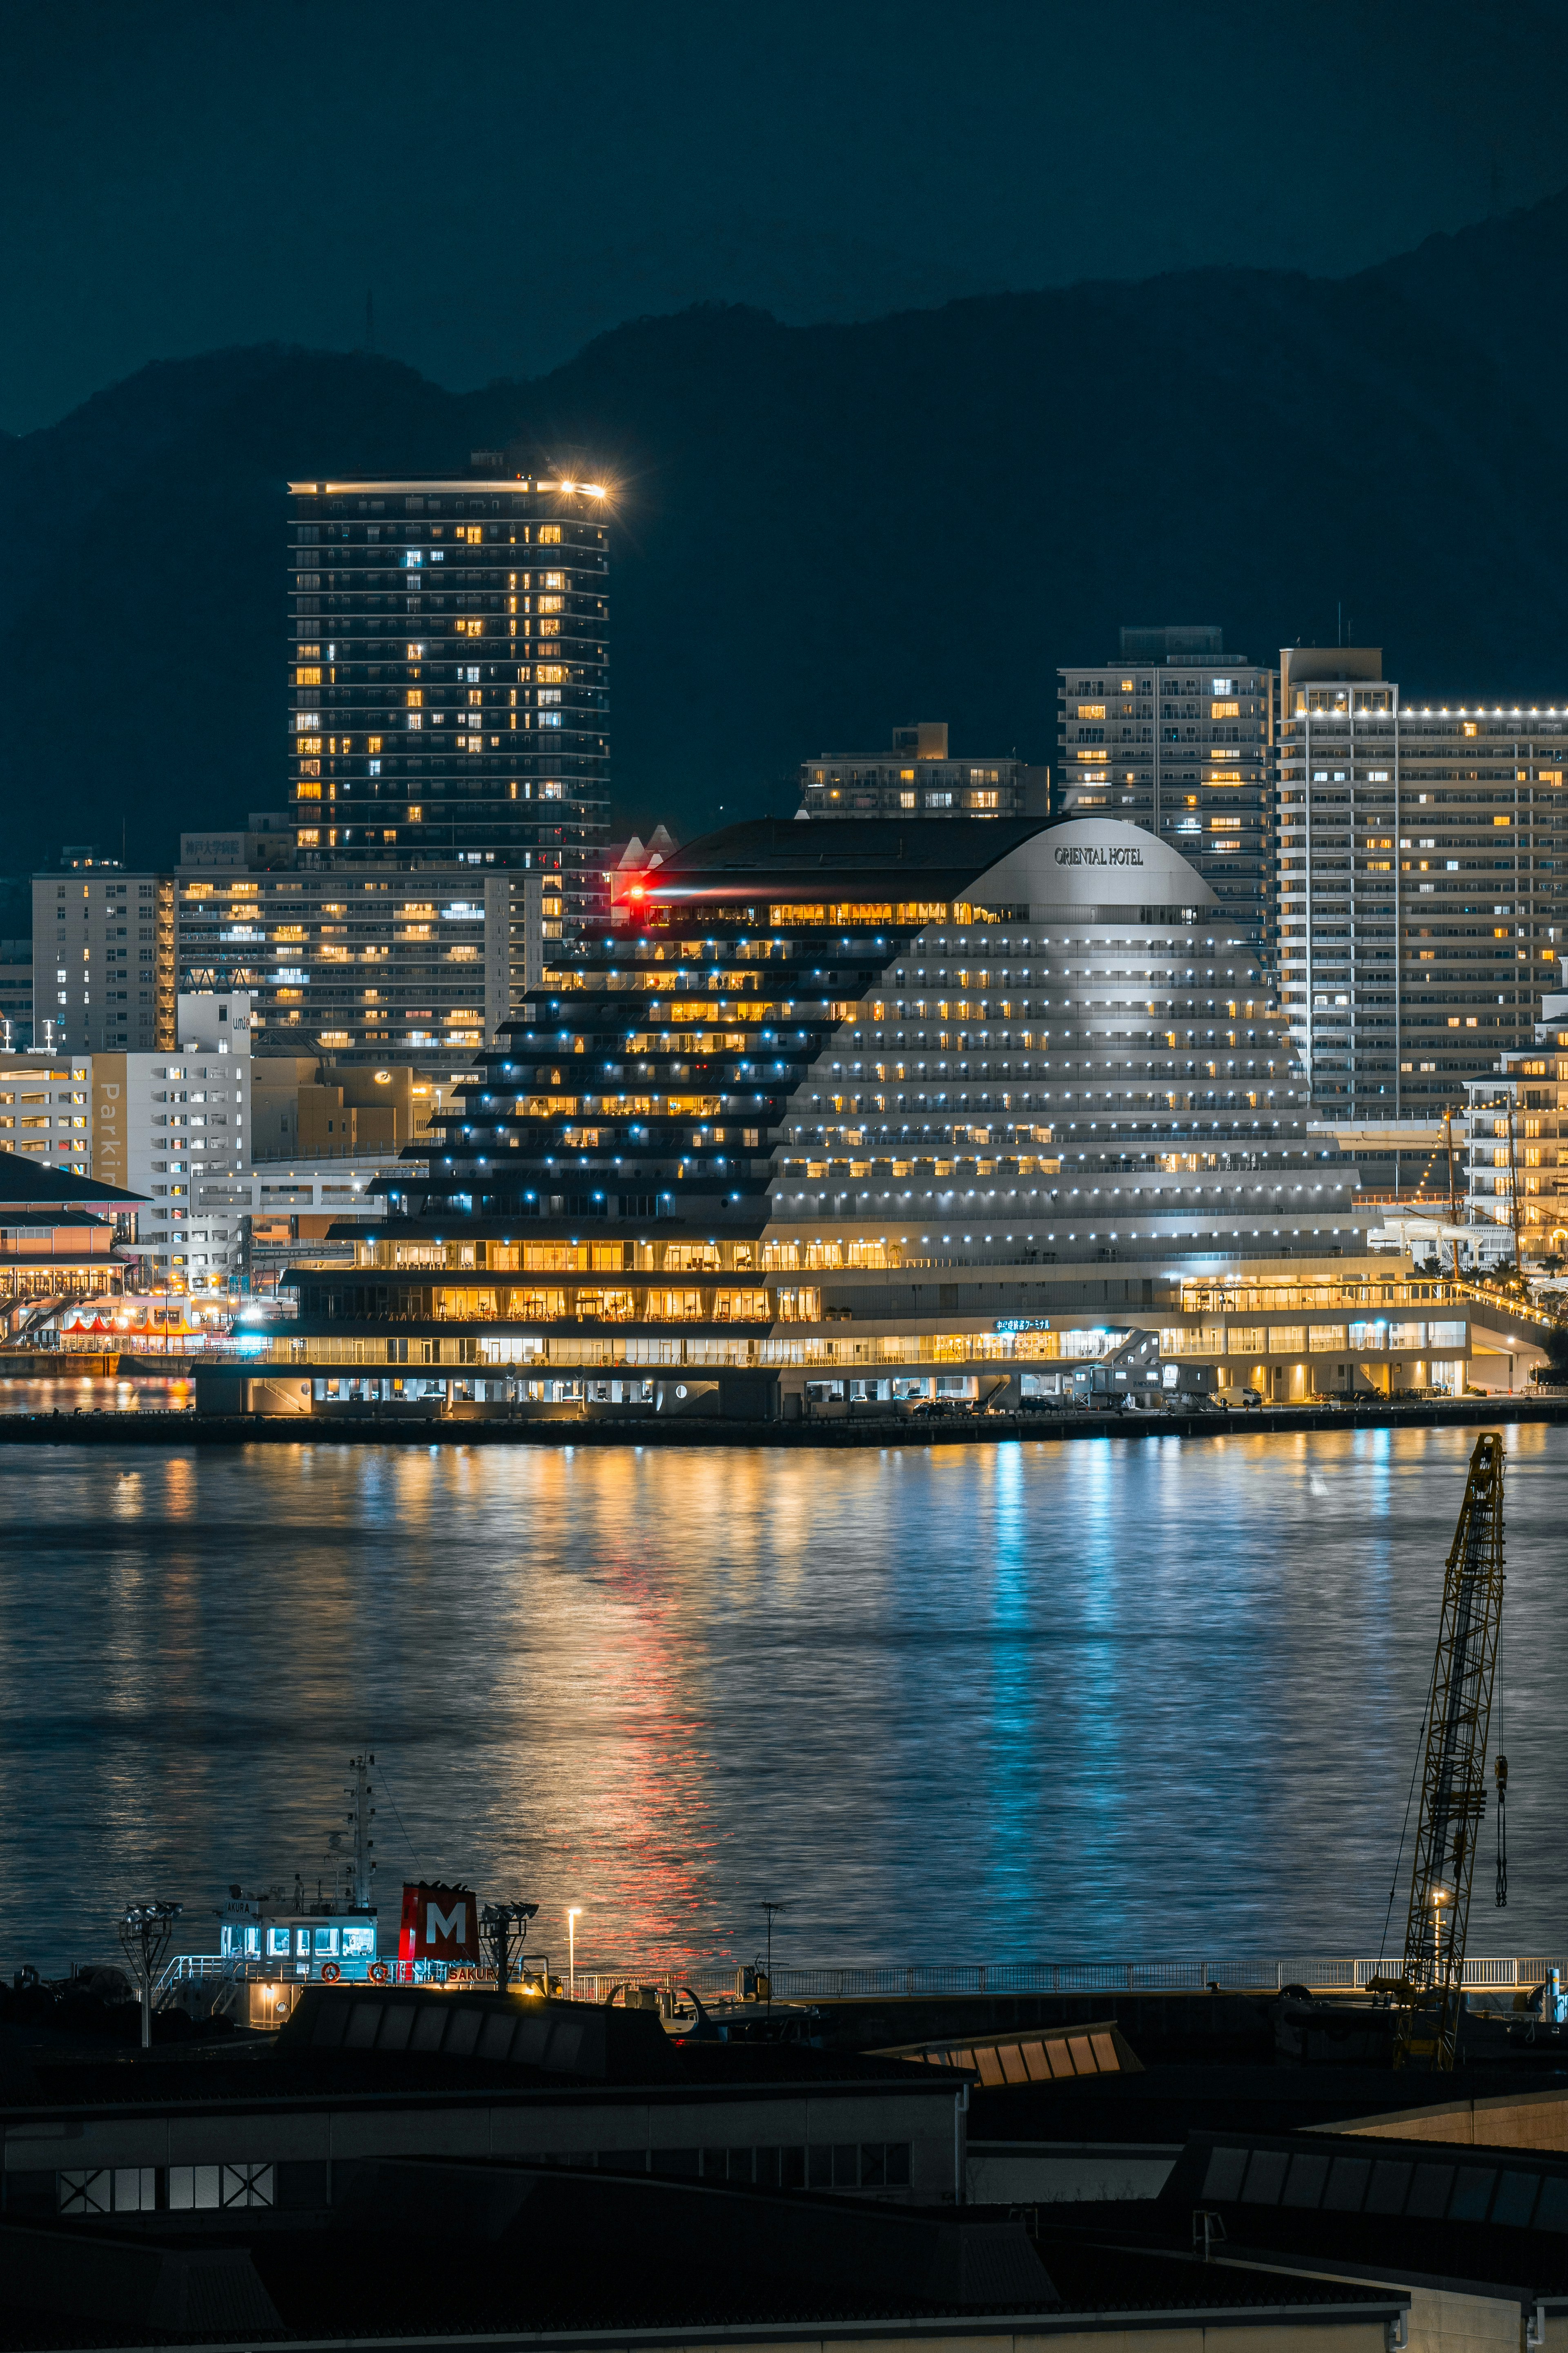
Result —
[{"label": "pale apartment tower directly behind the curved Oriental Hotel sign", "polygon": [[1272,946],[1274,671],[1218,628],[1124,628],[1114,661],[1058,678],[1060,814],[1159,835]]}]

